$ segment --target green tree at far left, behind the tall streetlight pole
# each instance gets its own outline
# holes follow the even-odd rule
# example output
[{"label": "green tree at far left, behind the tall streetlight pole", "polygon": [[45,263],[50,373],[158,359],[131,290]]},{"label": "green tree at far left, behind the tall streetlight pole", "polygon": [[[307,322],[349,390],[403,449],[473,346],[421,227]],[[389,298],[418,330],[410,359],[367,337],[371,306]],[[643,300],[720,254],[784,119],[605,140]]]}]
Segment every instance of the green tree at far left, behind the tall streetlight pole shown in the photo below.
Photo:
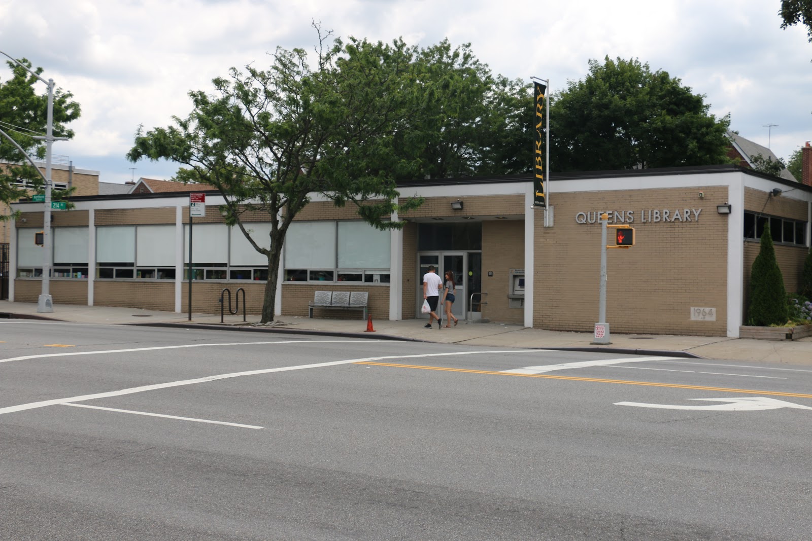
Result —
[{"label": "green tree at far left, behind the tall streetlight pole", "polygon": [[[20,58],[19,62],[31,69],[31,62]],[[45,141],[33,139],[34,135],[45,135],[48,111],[48,92],[42,82],[25,71],[15,62],[6,62],[11,68],[11,77],[0,80],[0,130],[11,137],[26,154],[42,159],[45,157]],[[42,68],[32,70],[37,75]],[[41,88],[40,88],[41,87]],[[42,88],[45,88],[44,92]],[[40,93],[37,93],[40,92]],[[68,122],[80,116],[80,106],[72,101],[71,92],[54,90],[54,137],[73,137],[73,131],[66,127]],[[0,201],[9,203],[28,195],[24,188],[14,182],[24,179],[31,181],[35,189],[43,183],[32,165],[28,164],[20,152],[6,137],[0,135]],[[0,219],[8,217],[0,216]]]}]

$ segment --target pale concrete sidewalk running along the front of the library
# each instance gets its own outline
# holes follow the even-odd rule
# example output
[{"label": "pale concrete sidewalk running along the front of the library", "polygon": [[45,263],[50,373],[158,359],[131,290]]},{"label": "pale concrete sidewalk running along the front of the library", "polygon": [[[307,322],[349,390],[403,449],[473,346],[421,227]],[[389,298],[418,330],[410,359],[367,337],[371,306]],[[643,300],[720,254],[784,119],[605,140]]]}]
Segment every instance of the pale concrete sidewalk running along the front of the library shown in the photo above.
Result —
[{"label": "pale concrete sidewalk running along the front of the library", "polygon": [[[674,354],[735,361],[812,365],[812,337],[798,341],[770,341],[724,337],[693,337],[654,334],[612,334],[608,346],[594,346],[591,333],[566,333],[525,328],[515,324],[471,323],[460,320],[456,327],[424,328],[425,320],[374,320],[375,333],[365,333],[366,321],[310,319],[279,316],[273,326],[257,326],[259,316],[188,314],[126,307],[88,307],[72,304],[54,306],[50,313],[37,313],[36,303],[0,301],[0,318],[32,318],[85,324],[173,325],[188,328],[216,327],[241,331],[330,334],[377,339],[406,339],[515,348],[607,350],[624,354]],[[2,320],[0,320],[2,325]],[[2,333],[2,331],[0,331]]]}]

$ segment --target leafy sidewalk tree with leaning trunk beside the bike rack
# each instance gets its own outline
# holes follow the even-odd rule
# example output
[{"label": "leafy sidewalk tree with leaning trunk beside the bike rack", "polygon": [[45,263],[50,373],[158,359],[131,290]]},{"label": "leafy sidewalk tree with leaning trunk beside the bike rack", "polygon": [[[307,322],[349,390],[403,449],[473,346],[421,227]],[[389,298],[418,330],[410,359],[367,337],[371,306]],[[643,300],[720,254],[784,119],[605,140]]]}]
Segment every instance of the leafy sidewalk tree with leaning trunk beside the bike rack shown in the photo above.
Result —
[{"label": "leafy sidewalk tree with leaning trunk beside the bike rack", "polygon": [[[395,177],[418,167],[393,144],[423,99],[414,54],[402,41],[351,38],[319,46],[311,64],[303,49],[278,48],[267,70],[232,68],[229,77],[214,79],[214,94],[190,92],[192,113],[175,117],[171,127],[139,129],[127,157],[176,161],[186,166],[177,179],[217,187],[227,222],[268,257],[275,277],[287,229],[309,194],[337,206],[352,202],[381,229],[400,227],[387,221],[389,214],[421,203],[395,204]],[[244,213],[256,211],[266,214],[270,238],[255,239],[244,225]],[[274,279],[266,283],[263,323],[274,319],[276,286]]]}]

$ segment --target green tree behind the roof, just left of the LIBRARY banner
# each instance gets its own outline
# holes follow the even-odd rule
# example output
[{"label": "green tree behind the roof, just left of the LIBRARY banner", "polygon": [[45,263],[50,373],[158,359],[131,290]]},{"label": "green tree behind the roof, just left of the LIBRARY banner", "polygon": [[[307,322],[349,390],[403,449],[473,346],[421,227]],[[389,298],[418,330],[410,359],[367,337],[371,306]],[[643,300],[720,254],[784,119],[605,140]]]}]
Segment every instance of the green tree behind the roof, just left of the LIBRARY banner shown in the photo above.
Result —
[{"label": "green tree behind the roof, just left of the LIBRARY banner", "polygon": [[419,178],[530,170],[531,85],[493,75],[470,44],[452,49],[447,40],[416,51],[412,69],[427,91],[397,144],[404,157],[417,160]]}]

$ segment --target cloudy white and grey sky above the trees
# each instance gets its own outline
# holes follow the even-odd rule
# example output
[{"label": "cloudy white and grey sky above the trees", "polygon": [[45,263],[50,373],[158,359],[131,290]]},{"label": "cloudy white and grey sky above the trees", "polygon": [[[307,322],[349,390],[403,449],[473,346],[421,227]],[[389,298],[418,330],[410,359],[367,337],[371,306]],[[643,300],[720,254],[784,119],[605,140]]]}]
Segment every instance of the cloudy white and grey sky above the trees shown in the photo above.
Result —
[{"label": "cloudy white and grey sky above the trees", "polygon": [[267,66],[277,45],[312,50],[313,19],[335,36],[470,42],[495,73],[549,78],[554,91],[583,79],[590,58],[639,58],[705,94],[749,140],[767,146],[766,125],[777,125],[769,144],[788,158],[812,140],[812,44],[806,28],[781,30],[779,9],[780,0],[0,0],[0,51],[73,92],[76,137],[54,154],[105,182],[171,178],[176,165],[124,158],[138,125],[185,117],[189,90],[211,90],[230,67]]}]

